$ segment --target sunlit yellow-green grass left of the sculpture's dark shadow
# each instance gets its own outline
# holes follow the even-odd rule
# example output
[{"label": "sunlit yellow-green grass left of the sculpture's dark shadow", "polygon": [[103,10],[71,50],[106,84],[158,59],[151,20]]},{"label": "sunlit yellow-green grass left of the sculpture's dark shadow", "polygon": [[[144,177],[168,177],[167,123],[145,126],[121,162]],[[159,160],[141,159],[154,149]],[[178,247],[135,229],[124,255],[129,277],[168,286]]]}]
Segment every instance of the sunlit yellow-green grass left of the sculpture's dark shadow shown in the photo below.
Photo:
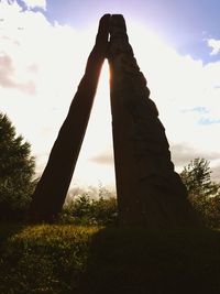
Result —
[{"label": "sunlit yellow-green grass left of the sculpture's dark shadow", "polygon": [[89,238],[97,228],[1,226],[1,294],[72,293],[85,272]]}]

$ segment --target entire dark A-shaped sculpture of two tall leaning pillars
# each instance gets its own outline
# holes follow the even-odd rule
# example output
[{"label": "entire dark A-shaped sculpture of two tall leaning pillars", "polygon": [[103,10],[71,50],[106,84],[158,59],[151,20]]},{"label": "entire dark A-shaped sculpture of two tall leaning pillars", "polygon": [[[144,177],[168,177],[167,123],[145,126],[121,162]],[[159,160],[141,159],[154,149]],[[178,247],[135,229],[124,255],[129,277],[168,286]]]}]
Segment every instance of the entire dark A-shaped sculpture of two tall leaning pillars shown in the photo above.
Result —
[{"label": "entire dark A-shaped sculpture of two tall leaning pillars", "polygon": [[[110,33],[110,43],[108,35]],[[86,73],[33,195],[30,215],[50,221],[61,211],[87,128],[105,57],[111,69],[111,110],[120,225],[198,225],[174,172],[165,129],[140,72],[122,15],[100,20]]]}]

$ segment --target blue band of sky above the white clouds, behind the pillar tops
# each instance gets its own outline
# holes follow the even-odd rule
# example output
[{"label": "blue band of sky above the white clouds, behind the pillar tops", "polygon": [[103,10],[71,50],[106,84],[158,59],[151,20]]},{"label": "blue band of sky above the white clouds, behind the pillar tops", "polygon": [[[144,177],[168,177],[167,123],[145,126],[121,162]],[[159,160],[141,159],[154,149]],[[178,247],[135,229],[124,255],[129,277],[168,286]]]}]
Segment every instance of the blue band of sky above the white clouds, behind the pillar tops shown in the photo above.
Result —
[{"label": "blue band of sky above the white clouds, behind the pillar tops", "polygon": [[[18,1],[22,6],[22,1]],[[37,10],[37,8],[35,8]],[[205,63],[210,55],[207,39],[220,37],[220,1],[218,0],[128,0],[128,1],[46,1],[45,17],[53,23],[88,28],[105,13],[122,13],[144,23],[180,54],[190,54]]]}]

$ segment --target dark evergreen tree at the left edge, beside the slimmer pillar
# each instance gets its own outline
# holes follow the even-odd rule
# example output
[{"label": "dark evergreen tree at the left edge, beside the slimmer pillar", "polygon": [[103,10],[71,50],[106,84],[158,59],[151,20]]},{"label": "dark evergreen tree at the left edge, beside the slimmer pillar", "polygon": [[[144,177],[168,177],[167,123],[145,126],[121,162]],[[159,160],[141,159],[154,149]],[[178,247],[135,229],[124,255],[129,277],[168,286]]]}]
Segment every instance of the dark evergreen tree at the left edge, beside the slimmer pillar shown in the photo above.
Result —
[{"label": "dark evergreen tree at the left edge, beside the slimmer pillar", "polygon": [[36,181],[31,145],[16,137],[9,118],[0,112],[0,219],[21,218],[31,202]]}]

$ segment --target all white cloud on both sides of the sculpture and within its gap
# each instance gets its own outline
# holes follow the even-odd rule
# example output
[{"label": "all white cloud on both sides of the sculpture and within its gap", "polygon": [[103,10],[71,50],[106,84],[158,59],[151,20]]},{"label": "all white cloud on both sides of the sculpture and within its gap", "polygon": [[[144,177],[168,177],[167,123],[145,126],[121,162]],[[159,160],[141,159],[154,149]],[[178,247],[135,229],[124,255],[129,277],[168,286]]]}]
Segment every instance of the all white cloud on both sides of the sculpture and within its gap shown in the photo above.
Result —
[{"label": "all white cloud on both sides of the sculpture and within its gap", "polygon": [[[15,1],[7,2],[0,2],[1,110],[31,142],[40,173],[84,74],[97,24],[88,31],[76,31],[50,23],[41,11],[23,10]],[[189,55],[180,56],[146,28],[135,25],[128,20],[130,41],[166,128],[176,167],[182,170],[194,157],[202,156],[218,172],[220,62],[204,65]],[[112,149],[105,65],[75,181],[113,182]]]}]

